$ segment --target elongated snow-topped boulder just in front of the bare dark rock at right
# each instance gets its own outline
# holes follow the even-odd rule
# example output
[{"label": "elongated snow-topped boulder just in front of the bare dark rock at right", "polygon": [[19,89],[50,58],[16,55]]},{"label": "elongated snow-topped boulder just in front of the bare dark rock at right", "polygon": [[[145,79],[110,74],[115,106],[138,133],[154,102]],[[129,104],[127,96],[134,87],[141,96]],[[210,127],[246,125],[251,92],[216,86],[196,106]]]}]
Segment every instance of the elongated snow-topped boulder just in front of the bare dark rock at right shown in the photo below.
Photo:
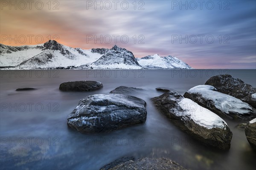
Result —
[{"label": "elongated snow-topped boulder just in front of the bare dark rock at right", "polygon": [[202,107],[229,118],[251,119],[256,117],[256,109],[236,97],[220,93],[211,85],[198,85],[184,94]]}]

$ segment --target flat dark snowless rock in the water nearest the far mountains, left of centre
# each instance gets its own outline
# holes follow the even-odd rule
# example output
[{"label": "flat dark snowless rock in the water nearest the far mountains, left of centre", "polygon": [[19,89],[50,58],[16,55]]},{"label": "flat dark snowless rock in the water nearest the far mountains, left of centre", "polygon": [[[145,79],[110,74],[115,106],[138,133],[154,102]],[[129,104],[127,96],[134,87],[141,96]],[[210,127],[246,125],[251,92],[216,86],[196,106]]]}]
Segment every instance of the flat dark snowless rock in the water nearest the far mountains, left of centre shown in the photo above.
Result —
[{"label": "flat dark snowless rock in the water nearest the far mountains, left of centre", "polygon": [[96,81],[75,81],[61,83],[59,89],[61,91],[95,91],[102,88],[101,82]]}]

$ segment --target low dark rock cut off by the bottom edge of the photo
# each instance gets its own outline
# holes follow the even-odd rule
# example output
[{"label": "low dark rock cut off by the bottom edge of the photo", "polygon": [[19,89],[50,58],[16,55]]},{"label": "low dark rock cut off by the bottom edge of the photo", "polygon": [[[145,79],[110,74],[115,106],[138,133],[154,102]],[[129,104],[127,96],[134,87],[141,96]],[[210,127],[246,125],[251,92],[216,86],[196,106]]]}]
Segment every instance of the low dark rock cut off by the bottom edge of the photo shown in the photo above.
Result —
[{"label": "low dark rock cut off by the bottom edge of the photo", "polygon": [[167,158],[140,158],[134,160],[133,157],[125,157],[121,158],[121,161],[116,160],[105,165],[100,170],[186,170],[186,168]]}]

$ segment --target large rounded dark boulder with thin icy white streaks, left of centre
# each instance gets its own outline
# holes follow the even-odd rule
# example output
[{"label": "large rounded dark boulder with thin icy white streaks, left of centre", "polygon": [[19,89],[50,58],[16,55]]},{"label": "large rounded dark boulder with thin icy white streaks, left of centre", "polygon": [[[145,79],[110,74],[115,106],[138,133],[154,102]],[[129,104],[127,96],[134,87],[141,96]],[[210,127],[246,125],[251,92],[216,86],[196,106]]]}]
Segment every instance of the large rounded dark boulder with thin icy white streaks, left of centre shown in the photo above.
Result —
[{"label": "large rounded dark boulder with thin icy white streaks, left of centre", "polygon": [[123,94],[95,94],[81,99],[67,125],[83,133],[110,132],[144,123],[146,102]]}]

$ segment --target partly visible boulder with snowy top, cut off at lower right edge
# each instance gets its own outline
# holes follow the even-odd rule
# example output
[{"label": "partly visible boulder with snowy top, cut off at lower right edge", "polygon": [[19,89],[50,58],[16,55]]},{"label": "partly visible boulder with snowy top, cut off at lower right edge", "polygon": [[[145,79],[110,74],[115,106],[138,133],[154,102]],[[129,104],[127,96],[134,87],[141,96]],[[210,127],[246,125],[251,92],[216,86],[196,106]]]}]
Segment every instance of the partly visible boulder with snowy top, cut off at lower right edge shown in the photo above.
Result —
[{"label": "partly visible boulder with snowy top, cut off at lower right edge", "polygon": [[256,149],[256,118],[247,123],[244,131],[247,141]]}]

